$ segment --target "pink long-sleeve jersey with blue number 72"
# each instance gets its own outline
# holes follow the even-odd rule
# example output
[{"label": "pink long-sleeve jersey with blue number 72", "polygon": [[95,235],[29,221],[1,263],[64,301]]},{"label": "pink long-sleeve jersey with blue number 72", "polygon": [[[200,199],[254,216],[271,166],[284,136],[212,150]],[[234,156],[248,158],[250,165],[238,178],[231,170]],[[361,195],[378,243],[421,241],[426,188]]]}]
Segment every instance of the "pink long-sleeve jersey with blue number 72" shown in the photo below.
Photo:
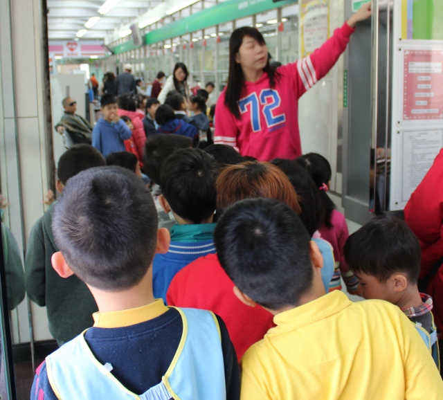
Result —
[{"label": "pink long-sleeve jersey with blue number 72", "polygon": [[298,99],[332,69],[353,32],[345,23],[308,57],[280,66],[274,88],[267,73],[256,82],[245,82],[239,120],[224,104],[225,89],[215,107],[215,143],[237,147],[243,156],[260,161],[300,156]]}]

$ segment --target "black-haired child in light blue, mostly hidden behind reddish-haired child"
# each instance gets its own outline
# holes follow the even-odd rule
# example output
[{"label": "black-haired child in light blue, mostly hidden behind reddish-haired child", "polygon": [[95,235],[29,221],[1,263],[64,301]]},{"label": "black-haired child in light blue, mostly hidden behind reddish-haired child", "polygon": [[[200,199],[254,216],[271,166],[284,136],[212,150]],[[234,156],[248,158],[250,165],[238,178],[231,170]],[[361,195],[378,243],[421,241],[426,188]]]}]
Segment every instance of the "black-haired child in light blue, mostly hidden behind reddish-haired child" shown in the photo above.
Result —
[{"label": "black-haired child in light blue, mostly hidden behind reddish-haired child", "polygon": [[300,219],[312,240],[316,242],[323,257],[321,277],[325,290],[329,291],[332,276],[334,275],[334,253],[331,244],[323,239],[318,232],[318,228],[325,220],[325,208],[323,208],[316,184],[312,181],[307,171],[295,161],[275,158],[271,161],[271,164],[276,165],[286,174],[291,185],[296,190],[301,208]]}]

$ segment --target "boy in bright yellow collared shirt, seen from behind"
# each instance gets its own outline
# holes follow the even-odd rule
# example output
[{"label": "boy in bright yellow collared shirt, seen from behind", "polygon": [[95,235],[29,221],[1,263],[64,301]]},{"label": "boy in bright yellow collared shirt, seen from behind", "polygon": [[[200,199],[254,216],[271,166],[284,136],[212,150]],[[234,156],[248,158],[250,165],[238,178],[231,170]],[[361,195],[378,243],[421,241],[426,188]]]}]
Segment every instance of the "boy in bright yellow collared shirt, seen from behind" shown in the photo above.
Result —
[{"label": "boy in bright yellow collared shirt, seen from behind", "polygon": [[431,354],[398,307],[325,293],[318,247],[289,206],[239,201],[214,236],[238,298],[277,325],[242,358],[241,399],[443,398]]}]

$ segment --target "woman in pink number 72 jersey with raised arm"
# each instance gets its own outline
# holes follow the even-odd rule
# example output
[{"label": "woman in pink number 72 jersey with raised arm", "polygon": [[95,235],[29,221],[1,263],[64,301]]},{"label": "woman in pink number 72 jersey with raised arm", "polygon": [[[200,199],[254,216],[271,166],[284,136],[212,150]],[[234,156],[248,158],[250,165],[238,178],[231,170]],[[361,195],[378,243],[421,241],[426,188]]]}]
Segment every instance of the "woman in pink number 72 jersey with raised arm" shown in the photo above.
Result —
[{"label": "woman in pink number 72 jersey with raised arm", "polygon": [[298,98],[323,78],[345,51],[357,22],[370,17],[361,7],[308,57],[278,69],[269,64],[262,34],[245,26],[229,40],[229,77],[215,108],[215,143],[237,147],[260,161],[302,154]]}]

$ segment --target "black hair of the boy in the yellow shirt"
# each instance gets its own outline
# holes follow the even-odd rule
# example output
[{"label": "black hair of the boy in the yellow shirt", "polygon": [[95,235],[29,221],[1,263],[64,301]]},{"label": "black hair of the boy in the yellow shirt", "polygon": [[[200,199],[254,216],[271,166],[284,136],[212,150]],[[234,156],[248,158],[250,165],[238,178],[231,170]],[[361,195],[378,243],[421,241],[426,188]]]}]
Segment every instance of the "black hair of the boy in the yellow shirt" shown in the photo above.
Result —
[{"label": "black hair of the boy in the yellow shirt", "polygon": [[243,293],[271,310],[296,306],[312,287],[311,238],[287,204],[246,199],[227,208],[215,227],[221,266]]}]

